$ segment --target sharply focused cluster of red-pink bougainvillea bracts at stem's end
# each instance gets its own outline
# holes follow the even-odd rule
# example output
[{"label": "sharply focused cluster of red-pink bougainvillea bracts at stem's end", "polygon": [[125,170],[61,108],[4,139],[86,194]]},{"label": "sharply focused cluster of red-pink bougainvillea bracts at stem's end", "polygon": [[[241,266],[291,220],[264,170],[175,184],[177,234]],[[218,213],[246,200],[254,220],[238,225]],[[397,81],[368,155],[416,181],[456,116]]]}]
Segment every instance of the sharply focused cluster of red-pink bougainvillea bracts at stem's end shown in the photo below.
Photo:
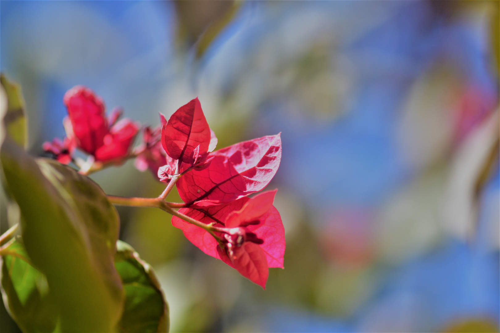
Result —
[{"label": "sharply focused cluster of red-pink bougainvillea bracts at stem's end", "polygon": [[168,121],[160,118],[166,164],[158,169],[158,177],[168,182],[182,175],[176,186],[186,204],[178,212],[210,226],[217,239],[177,216],[172,225],[201,251],[265,288],[268,268],[283,268],[284,228],[272,205],[276,190],[248,196],[264,189],[276,173],[281,159],[279,134],[212,152],[217,139],[197,98]]}]

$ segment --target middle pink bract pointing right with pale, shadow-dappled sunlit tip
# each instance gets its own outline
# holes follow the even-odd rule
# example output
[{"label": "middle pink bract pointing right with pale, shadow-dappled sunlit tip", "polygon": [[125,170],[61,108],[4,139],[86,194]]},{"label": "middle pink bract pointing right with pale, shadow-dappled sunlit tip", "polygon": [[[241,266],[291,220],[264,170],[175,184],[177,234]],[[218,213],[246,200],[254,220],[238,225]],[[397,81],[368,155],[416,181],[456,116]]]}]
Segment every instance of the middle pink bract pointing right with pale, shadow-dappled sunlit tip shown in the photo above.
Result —
[{"label": "middle pink bract pointing right with pale, shadow-dappled sunlit tip", "polygon": [[236,143],[208,154],[210,165],[187,171],[177,190],[186,203],[198,200],[229,202],[262,190],[276,173],[281,160],[280,134]]}]

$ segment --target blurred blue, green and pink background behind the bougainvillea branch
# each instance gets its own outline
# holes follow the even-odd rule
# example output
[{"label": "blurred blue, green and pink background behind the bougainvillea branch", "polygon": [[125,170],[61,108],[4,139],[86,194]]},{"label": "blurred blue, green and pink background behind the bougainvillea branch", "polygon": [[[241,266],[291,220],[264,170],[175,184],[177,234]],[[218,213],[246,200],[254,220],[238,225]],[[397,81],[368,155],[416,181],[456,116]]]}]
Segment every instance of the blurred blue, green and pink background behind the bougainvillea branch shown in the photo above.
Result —
[{"label": "blurred blue, green and pink background behind the bougainvillea branch", "polygon": [[[2,0],[0,67],[34,155],[76,84],[153,126],[199,96],[217,148],[282,133],[285,269],[266,291],[165,212],[118,208],[172,332],[498,332],[499,3]],[[92,178],[163,189],[133,161]]]}]

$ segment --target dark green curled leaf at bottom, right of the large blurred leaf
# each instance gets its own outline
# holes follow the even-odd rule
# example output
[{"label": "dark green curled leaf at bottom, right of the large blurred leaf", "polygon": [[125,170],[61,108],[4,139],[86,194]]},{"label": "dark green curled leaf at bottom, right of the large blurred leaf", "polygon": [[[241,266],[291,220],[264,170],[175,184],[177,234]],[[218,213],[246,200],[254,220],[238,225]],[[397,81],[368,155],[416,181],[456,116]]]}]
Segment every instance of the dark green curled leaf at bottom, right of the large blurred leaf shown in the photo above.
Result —
[{"label": "dark green curled leaf at bottom, right of the large blurred leaf", "polygon": [[116,243],[114,266],[125,290],[125,307],[117,330],[123,333],[168,332],[168,306],[151,267],[122,241]]}]

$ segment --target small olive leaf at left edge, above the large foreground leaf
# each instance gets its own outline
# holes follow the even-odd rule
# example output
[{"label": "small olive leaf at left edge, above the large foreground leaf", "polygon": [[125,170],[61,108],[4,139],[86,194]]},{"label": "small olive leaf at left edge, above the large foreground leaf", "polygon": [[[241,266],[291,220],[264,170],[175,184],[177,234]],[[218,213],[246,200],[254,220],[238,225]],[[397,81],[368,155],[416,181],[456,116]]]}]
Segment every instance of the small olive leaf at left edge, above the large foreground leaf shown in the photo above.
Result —
[{"label": "small olive leaf at left edge, above the large foreground leaf", "polygon": [[21,88],[18,84],[9,82],[4,74],[0,74],[0,82],[7,98],[7,110],[3,117],[7,135],[19,146],[25,147],[27,131]]}]

